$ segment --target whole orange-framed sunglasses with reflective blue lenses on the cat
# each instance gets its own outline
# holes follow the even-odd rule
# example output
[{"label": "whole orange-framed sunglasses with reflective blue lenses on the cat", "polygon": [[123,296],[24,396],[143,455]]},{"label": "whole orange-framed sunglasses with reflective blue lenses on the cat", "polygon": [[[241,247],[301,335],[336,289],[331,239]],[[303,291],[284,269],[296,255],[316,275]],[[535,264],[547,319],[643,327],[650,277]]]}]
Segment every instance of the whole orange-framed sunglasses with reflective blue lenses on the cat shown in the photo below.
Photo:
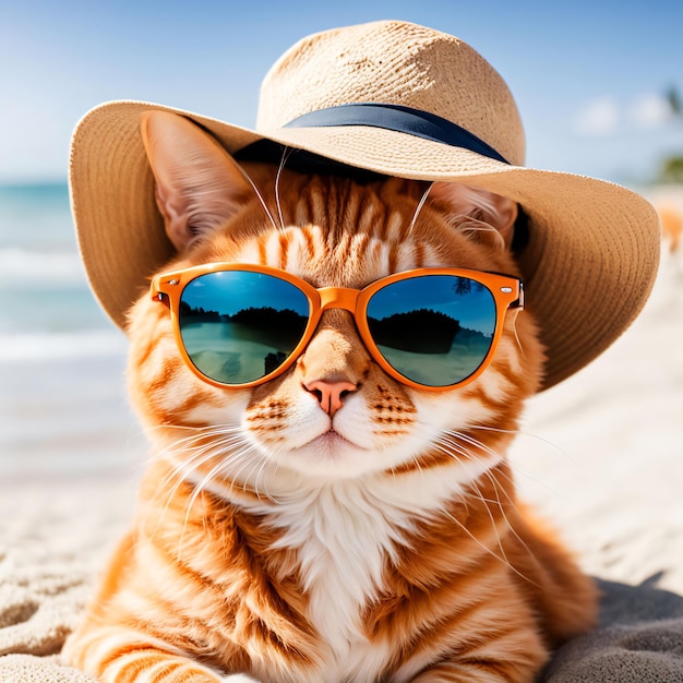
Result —
[{"label": "whole orange-framed sunglasses with reflective blue lenses on the cat", "polygon": [[271,266],[211,263],[155,277],[152,297],[170,309],[188,367],[220,387],[255,386],[281,374],[305,349],[323,311],[343,309],[391,376],[415,388],[451,390],[483,372],[507,309],[524,308],[516,277],[463,268],[416,268],[363,289],[316,289]]}]

